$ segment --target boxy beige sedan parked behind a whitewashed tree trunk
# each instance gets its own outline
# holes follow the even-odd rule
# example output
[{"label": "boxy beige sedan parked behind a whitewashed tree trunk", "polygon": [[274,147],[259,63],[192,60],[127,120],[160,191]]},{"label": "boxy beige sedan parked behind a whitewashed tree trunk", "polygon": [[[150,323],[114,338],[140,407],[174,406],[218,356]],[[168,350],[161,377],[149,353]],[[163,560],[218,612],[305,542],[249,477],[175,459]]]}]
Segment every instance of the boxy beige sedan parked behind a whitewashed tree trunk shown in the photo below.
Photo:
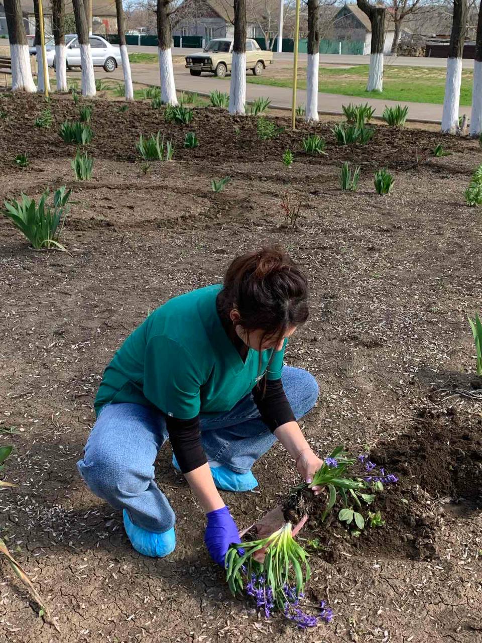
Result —
[{"label": "boxy beige sedan parked behind a whitewashed tree trunk", "polygon": [[[203,71],[224,78],[231,71],[233,60],[233,41],[229,38],[216,38],[208,43],[202,53],[186,56],[186,68],[192,76],[201,76]],[[258,43],[249,38],[246,41],[246,69],[252,69],[260,76],[263,69],[272,63],[272,51],[264,51]]]}]

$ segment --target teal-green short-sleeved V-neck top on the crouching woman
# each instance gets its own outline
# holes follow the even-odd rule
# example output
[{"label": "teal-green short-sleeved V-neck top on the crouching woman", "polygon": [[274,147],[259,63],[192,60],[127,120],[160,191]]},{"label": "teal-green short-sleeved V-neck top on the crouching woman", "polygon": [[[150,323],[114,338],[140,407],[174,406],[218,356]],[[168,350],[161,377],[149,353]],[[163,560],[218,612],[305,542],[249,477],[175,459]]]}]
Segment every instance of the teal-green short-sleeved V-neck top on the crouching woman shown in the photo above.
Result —
[{"label": "teal-green short-sleeved V-neck top on the crouching woman", "polygon": [[[267,370],[272,350],[249,349],[245,361],[216,309],[221,285],[174,297],[156,309],[121,345],[105,369],[94,408],[109,402],[156,406],[181,420],[230,411]],[[279,379],[283,350],[268,379]]]}]

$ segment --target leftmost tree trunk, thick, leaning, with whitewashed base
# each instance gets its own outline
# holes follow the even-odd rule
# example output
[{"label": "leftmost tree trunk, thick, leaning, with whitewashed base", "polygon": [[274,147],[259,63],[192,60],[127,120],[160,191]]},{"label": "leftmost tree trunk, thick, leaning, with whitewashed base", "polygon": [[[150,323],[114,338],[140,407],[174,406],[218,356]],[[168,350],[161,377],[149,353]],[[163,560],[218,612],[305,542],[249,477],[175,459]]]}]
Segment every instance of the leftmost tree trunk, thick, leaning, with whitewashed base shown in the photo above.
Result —
[{"label": "leftmost tree trunk, thick, leaning, with whitewashed base", "polygon": [[6,26],[12,58],[12,90],[37,91],[31,75],[30,53],[23,25],[20,0],[4,0]]}]

